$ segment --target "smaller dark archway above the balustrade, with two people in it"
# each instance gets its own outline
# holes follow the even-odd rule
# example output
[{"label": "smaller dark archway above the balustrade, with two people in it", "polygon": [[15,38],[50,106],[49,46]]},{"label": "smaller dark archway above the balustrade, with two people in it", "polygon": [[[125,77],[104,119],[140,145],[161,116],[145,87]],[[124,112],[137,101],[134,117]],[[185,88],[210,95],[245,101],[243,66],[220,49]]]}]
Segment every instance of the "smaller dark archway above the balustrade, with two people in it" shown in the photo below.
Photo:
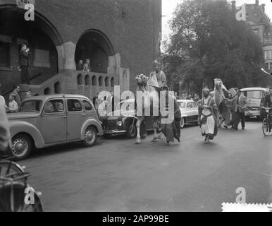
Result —
[{"label": "smaller dark archway above the balustrade, with two people in it", "polygon": [[89,59],[92,72],[107,73],[114,50],[108,37],[99,30],[87,30],[75,47],[75,62]]}]

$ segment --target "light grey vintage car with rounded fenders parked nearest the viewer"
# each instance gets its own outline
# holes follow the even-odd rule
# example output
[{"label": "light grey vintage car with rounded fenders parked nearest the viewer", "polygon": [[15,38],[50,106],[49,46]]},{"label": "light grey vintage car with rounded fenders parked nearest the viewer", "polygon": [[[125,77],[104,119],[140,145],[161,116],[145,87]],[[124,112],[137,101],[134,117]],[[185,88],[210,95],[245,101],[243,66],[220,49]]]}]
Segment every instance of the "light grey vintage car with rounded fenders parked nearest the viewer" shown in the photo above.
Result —
[{"label": "light grey vintage car with rounded fenders parked nearest the viewer", "polygon": [[12,153],[23,160],[32,148],[82,141],[92,146],[103,135],[92,102],[81,95],[44,95],[24,100],[18,113],[8,114]]}]

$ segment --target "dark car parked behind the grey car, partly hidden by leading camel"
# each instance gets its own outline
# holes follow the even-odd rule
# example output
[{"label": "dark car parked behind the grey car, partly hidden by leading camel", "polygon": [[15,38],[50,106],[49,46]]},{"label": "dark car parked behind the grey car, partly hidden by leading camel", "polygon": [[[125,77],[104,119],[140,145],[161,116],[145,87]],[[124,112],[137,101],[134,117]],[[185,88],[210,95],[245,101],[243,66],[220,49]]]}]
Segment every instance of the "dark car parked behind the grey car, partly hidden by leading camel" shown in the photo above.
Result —
[{"label": "dark car parked behind the grey car, partly hidden by leading camel", "polygon": [[[125,105],[123,105],[126,103]],[[125,106],[125,107],[123,107]],[[120,109],[124,108],[123,111]],[[135,138],[137,136],[135,116],[135,99],[123,100],[118,103],[115,111],[107,114],[106,116],[100,116],[99,120],[102,122],[104,129],[104,136],[112,136],[117,134],[125,134],[127,138]],[[142,122],[140,135],[142,138],[147,136],[147,131],[153,129],[152,117],[147,117],[147,120]],[[161,130],[160,121],[158,121],[158,129]]]}]

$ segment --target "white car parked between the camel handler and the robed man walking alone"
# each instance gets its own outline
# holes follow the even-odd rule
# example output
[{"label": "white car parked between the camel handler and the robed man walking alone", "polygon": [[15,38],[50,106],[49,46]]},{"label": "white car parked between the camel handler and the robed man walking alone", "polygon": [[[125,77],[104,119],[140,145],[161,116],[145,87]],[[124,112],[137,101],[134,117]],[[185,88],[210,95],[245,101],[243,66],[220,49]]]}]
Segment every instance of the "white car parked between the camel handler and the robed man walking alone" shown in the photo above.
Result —
[{"label": "white car parked between the camel handler and the robed man walking alone", "polygon": [[185,124],[199,125],[197,103],[194,102],[193,100],[177,100],[177,101],[178,107],[180,107],[181,112],[180,128],[183,128]]}]

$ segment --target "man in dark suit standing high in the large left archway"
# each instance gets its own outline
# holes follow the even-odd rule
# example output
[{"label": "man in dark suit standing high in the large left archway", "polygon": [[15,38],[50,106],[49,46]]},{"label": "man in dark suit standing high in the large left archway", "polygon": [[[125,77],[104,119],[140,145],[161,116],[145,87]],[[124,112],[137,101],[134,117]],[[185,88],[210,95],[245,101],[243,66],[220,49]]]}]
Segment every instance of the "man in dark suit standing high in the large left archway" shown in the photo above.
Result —
[{"label": "man in dark suit standing high in the large left archway", "polygon": [[22,44],[19,52],[19,64],[21,68],[21,80],[23,84],[30,84],[29,73],[28,73],[28,55],[30,49],[27,48],[26,44]]}]

